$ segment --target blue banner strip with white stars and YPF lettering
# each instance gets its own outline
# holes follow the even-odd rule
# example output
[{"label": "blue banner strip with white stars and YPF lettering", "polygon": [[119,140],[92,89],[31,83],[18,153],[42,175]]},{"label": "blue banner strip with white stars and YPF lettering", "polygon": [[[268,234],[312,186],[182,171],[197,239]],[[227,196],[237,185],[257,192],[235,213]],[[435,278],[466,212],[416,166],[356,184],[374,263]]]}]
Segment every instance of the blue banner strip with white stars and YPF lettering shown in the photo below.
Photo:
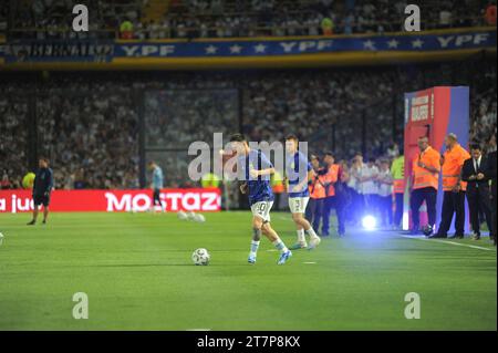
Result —
[{"label": "blue banner strip with white stars and YPF lettering", "polygon": [[496,31],[267,41],[120,43],[115,58],[266,56],[357,51],[442,51],[496,46]]}]

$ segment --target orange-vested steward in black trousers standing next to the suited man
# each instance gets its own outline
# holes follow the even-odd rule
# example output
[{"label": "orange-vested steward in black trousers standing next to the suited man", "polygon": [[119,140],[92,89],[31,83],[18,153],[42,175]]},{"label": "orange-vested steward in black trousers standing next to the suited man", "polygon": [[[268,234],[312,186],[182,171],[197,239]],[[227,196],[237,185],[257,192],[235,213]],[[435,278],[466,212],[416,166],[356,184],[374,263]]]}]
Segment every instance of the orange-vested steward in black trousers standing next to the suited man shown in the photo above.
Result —
[{"label": "orange-vested steward in black trousers standing next to the suited man", "polygon": [[457,136],[449,134],[445,138],[446,150],[442,158],[443,210],[437,233],[432,238],[447,238],[455,214],[455,235],[450,238],[464,238],[465,231],[465,190],[467,183],[461,181],[461,167],[470,154],[458,144]]}]

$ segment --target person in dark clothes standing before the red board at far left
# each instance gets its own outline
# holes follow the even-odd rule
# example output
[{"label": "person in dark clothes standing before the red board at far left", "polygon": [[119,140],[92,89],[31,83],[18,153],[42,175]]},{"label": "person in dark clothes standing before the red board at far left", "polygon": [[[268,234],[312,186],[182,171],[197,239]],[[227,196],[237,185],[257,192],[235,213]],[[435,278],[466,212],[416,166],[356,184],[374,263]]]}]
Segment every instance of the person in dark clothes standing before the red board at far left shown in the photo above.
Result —
[{"label": "person in dark clothes standing before the red board at far left", "polygon": [[46,224],[49,217],[50,193],[53,188],[53,172],[49,168],[49,159],[40,158],[38,162],[39,169],[33,183],[33,219],[28,226],[37,224],[38,207],[43,205],[43,224]]}]

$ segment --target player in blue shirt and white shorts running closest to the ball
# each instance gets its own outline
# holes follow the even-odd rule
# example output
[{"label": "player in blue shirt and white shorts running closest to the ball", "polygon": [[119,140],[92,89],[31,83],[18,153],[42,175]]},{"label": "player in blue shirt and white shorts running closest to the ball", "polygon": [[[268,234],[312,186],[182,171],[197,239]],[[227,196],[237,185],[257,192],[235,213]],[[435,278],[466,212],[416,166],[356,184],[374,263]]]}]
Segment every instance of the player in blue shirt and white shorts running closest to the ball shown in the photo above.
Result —
[{"label": "player in blue shirt and white shorts running closest to the ball", "polygon": [[237,153],[238,178],[242,194],[249,194],[249,205],[252,211],[252,241],[249,252],[249,263],[256,263],[261,235],[264,235],[280,251],[278,264],[286,263],[292,252],[270,226],[270,209],[273,205],[273,193],[270,186],[270,175],[274,173],[273,165],[261,153],[251,149],[241,134],[230,137],[231,148]]}]

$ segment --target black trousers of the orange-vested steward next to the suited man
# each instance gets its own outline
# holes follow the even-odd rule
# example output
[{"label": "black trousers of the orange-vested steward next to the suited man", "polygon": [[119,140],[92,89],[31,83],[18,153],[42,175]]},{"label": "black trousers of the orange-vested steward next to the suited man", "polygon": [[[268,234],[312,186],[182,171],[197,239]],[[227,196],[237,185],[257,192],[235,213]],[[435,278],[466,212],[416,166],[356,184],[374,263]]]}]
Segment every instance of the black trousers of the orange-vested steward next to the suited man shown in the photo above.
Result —
[{"label": "black trousers of the orange-vested steward next to the suited man", "polygon": [[445,191],[443,198],[443,210],[437,233],[447,236],[455,214],[455,236],[464,236],[465,232],[465,191]]}]

